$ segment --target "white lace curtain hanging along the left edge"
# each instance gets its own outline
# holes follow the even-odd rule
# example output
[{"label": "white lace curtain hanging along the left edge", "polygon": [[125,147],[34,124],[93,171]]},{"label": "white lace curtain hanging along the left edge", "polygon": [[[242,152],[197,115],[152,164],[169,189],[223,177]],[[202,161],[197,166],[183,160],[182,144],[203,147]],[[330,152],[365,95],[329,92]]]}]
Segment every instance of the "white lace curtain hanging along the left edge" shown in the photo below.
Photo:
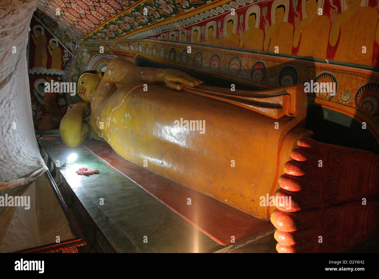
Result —
[{"label": "white lace curtain hanging along the left edge", "polygon": [[0,190],[27,184],[47,167],[34,135],[27,42],[37,0],[0,1]]}]

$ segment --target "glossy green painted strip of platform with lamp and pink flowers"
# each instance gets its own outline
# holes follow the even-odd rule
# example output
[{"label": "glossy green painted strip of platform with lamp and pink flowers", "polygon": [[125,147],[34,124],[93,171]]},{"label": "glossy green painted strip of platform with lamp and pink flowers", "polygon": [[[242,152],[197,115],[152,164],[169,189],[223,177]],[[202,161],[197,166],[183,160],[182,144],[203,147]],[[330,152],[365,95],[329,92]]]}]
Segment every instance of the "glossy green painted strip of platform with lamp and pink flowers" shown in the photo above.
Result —
[{"label": "glossy green painted strip of platform with lamp and pink flowers", "polygon": [[[59,138],[38,141],[53,162],[63,164],[69,154],[77,154],[74,163],[56,172],[116,252],[214,252],[224,248],[86,148],[56,149]],[[77,175],[80,166],[101,172]]]}]

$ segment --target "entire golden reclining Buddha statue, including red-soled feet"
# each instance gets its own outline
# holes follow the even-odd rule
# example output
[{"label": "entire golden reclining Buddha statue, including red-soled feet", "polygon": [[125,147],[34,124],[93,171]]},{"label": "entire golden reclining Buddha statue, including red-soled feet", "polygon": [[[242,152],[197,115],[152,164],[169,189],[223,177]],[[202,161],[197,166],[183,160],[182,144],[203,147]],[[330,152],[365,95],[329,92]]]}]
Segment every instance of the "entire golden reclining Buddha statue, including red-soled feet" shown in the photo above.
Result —
[{"label": "entire golden reclining Buddha statue, including red-soled feet", "polygon": [[379,156],[310,139],[303,85],[232,91],[116,58],[77,88],[84,102],[61,121],[64,144],[106,140],[136,165],[271,219],[279,252],[342,251],[378,228]]}]

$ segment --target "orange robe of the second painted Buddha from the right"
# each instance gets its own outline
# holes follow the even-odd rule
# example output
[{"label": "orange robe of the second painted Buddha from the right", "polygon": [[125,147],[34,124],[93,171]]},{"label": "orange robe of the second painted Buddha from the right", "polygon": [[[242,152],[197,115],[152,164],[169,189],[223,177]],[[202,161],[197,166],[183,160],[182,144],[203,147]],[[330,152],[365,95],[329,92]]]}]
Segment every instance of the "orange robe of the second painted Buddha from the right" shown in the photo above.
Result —
[{"label": "orange robe of the second painted Buddha from the right", "polygon": [[298,55],[325,59],[328,47],[330,20],[327,16],[316,15],[307,26],[301,28]]}]

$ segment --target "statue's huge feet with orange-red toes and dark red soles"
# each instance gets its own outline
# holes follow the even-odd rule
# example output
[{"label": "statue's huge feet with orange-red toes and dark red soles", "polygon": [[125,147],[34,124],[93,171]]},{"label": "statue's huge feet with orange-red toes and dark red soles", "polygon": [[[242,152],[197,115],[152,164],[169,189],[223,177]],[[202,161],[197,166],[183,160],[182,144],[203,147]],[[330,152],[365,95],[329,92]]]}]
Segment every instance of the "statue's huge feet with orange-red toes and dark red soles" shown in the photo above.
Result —
[{"label": "statue's huge feet with orange-red toes and dark red soles", "polygon": [[[278,252],[338,252],[379,223],[379,155],[304,138],[279,178],[271,222]],[[281,198],[283,197],[283,198]],[[289,200],[291,206],[280,204]]]}]

